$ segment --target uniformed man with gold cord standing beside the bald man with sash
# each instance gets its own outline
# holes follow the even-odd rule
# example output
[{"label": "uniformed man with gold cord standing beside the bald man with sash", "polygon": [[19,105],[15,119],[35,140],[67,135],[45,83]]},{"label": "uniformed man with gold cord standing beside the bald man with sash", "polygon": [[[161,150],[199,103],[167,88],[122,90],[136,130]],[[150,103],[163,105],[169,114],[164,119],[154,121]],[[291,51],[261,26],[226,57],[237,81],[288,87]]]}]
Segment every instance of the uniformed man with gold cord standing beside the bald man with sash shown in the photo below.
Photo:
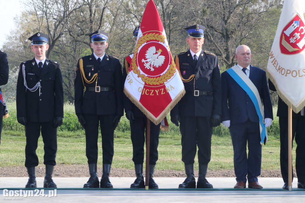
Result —
[{"label": "uniformed man with gold cord standing beside the bald man with sash", "polygon": [[181,132],[182,161],[187,178],[179,188],[196,188],[194,162],[198,146],[199,176],[197,188],[213,188],[206,180],[211,159],[212,127],[221,123],[221,79],[217,57],[203,51],[201,25],[187,27],[187,52],[175,56],[186,94],[170,112],[170,120]]}]

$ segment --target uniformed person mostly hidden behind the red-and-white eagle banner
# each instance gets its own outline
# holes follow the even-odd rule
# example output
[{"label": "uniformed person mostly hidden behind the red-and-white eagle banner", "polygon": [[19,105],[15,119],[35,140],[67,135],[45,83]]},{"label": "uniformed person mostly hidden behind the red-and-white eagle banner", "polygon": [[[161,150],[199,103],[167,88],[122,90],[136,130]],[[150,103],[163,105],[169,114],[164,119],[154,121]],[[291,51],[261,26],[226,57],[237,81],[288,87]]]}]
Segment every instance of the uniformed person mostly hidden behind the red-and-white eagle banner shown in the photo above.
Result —
[{"label": "uniformed person mostly hidden behind the red-and-white eagle banner", "polygon": [[[139,27],[137,26],[133,32],[135,42],[137,41]],[[123,81],[126,80],[129,71],[130,61],[133,53],[126,56],[123,64]],[[129,62],[128,62],[129,61]],[[147,118],[142,111],[133,104],[130,99],[124,95],[124,109],[126,118],[130,122],[131,142],[133,148],[132,161],[135,164],[136,180],[131,184],[130,188],[139,189],[145,188],[143,177],[143,162],[144,162],[144,144],[145,144],[145,128]],[[156,162],[158,160],[158,144],[160,134],[160,123],[155,125],[150,121],[150,146],[149,146],[149,189],[158,189],[158,185],[153,179]]]}]

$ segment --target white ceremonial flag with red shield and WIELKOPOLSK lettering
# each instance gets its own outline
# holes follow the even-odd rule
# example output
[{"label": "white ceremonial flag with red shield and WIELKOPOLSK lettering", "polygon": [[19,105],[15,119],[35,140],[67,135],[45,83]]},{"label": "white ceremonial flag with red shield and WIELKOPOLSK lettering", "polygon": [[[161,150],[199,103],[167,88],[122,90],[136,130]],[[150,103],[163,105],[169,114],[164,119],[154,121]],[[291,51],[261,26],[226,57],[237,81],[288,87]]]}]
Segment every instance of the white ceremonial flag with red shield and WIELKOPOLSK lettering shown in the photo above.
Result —
[{"label": "white ceremonial flag with red shield and WIELKOPOLSK lettering", "polygon": [[305,105],[304,0],[285,0],[267,64],[278,95],[299,112]]}]

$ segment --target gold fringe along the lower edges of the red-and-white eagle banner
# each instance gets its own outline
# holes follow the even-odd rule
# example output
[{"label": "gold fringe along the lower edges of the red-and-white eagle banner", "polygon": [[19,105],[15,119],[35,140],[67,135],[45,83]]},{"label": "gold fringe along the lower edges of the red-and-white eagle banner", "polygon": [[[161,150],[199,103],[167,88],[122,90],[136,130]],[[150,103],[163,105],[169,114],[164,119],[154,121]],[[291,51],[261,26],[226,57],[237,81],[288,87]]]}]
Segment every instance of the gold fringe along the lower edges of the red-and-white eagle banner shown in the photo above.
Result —
[{"label": "gold fringe along the lower edges of the red-and-white eagle banner", "polygon": [[184,88],[177,94],[177,96],[167,105],[167,107],[160,113],[160,115],[156,118],[151,113],[147,111],[147,109],[133,96],[129,93],[129,91],[124,87],[125,95],[134,103],[144,114],[145,116],[152,121],[155,125],[161,123],[162,119],[167,116],[167,114],[174,108],[174,106],[180,101],[180,99],[184,96],[185,90]]}]

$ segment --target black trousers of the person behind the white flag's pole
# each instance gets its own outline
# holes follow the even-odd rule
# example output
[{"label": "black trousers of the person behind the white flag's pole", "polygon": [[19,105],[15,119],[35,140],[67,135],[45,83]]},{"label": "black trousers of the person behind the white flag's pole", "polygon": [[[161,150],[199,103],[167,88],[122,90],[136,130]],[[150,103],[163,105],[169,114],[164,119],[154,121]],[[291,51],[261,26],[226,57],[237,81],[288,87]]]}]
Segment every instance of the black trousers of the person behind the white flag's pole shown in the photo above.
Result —
[{"label": "black trousers of the person behind the white flag's pole", "polygon": [[[288,182],[288,117],[279,117],[280,163],[284,182]],[[296,141],[296,175],[298,182],[305,181],[305,116],[292,117],[292,140]],[[293,175],[292,175],[293,179]]]}]

